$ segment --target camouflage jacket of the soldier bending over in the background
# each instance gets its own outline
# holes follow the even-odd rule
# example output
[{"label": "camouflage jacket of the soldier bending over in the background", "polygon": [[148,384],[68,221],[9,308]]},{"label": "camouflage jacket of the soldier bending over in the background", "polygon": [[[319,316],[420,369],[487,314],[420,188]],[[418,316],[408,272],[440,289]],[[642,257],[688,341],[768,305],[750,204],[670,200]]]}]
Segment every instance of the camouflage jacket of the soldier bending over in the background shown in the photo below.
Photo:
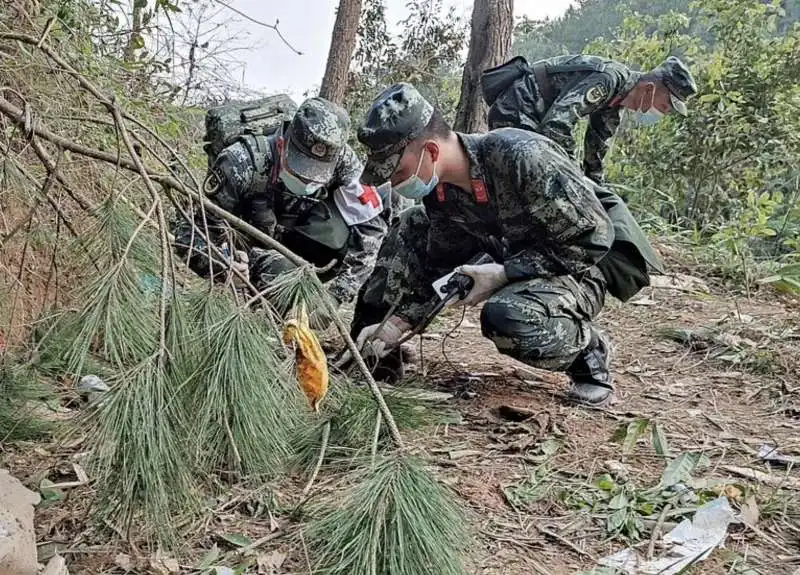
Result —
[{"label": "camouflage jacket of the soldier bending over in the background", "polygon": [[641,73],[597,56],[558,56],[542,63],[549,86],[539,86],[529,68],[529,73],[514,80],[490,102],[489,128],[538,132],[574,157],[573,130],[578,120],[587,118],[583,171],[602,183],[603,158],[619,127],[618,103],[633,89]]}]

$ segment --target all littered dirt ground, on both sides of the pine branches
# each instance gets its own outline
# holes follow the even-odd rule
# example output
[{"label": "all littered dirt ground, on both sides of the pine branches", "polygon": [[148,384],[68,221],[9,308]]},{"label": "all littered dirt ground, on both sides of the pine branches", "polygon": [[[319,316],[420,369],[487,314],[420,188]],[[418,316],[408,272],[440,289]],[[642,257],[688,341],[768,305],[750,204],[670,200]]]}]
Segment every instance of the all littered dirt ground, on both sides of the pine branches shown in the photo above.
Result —
[{"label": "all littered dirt ground, on both sides of the pine branches", "polygon": [[[610,535],[613,510],[598,495],[598,482],[610,477],[626,493],[641,495],[658,484],[670,460],[687,452],[707,458],[686,481],[692,491],[705,498],[725,493],[734,510],[746,507],[754,522],[732,525],[725,548],[691,572],[800,573],[800,470],[770,466],[758,456],[763,444],[782,455],[800,454],[800,306],[768,290],[748,299],[715,285],[706,293],[702,282],[685,277],[668,281],[673,287],[648,288],[624,306],[610,302],[599,318],[616,350],[616,396],[602,409],[566,404],[562,376],[496,353],[480,335],[477,312],[460,322],[461,314],[450,311],[423,339],[410,383],[452,393],[448,404],[461,421],[415,432],[412,441],[471,511],[471,573],[572,574],[630,545],[646,554],[651,539],[660,541],[652,537],[657,523],[666,532],[692,513],[681,515],[676,503],[676,514],[659,521],[658,512],[640,509],[639,523],[632,523],[636,537]],[[672,338],[662,333],[667,328]],[[620,427],[637,422],[647,425],[638,441],[623,447],[624,434],[612,440]],[[663,445],[662,454],[654,446],[656,424],[666,454]],[[0,467],[37,485],[45,474],[72,477],[83,449],[80,443],[17,445],[0,453]],[[746,478],[747,469],[763,475]],[[325,482],[323,475],[318,485]],[[133,542],[103,544],[87,529],[91,487],[66,491],[66,500],[37,510],[42,557],[58,547],[68,554],[72,573],[169,573],[178,567],[152,556],[143,567]],[[259,497],[242,490],[209,502],[216,510],[209,521],[253,538],[280,533],[283,518],[253,511]],[[244,526],[237,513],[242,506],[252,517]],[[208,523],[203,527],[210,531]],[[262,572],[308,573],[303,546],[275,539],[261,546],[262,556],[287,558]],[[208,549],[213,540],[201,535],[194,544]],[[188,565],[180,570],[198,572]]]}]

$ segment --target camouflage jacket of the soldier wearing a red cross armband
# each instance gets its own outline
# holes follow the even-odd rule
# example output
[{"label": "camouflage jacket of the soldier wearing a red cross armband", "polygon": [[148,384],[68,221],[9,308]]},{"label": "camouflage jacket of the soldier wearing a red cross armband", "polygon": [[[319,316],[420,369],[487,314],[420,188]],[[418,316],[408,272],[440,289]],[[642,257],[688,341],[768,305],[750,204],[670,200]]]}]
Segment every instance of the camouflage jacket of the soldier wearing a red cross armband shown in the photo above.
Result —
[{"label": "camouflage jacket of the soldier wearing a red cross armband", "polygon": [[[340,303],[352,300],[372,272],[387,228],[380,195],[359,183],[361,161],[346,146],[323,190],[311,198],[299,197],[277,177],[273,155],[280,145],[278,137],[259,138],[256,142],[255,137],[245,136],[220,152],[211,170],[218,186],[208,192],[209,199],[315,265],[324,266],[336,258],[339,263],[328,289]],[[260,154],[253,153],[256,146]],[[314,216],[311,224],[309,213]],[[224,222],[207,212],[205,216],[212,241],[219,243]],[[203,229],[201,218],[196,214],[199,229]],[[187,253],[191,226],[183,222],[175,235],[179,253]],[[198,257],[190,259],[190,266],[208,275],[205,248],[196,238],[193,241],[192,251]]]}]

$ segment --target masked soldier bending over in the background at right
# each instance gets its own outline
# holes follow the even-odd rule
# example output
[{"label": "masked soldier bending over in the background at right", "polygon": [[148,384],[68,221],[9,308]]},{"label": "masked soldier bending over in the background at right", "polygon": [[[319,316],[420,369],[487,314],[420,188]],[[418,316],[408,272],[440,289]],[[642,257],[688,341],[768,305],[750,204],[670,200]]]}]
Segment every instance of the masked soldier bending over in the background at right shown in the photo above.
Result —
[{"label": "masked soldier bending over in the background at right", "polygon": [[598,56],[558,56],[533,66],[518,56],[486,70],[481,83],[490,106],[489,129],[531,130],[574,156],[575,124],[587,118],[583,171],[598,183],[622,109],[637,112],[641,124],[651,124],[673,111],[685,116],[685,100],[697,93],[691,72],[675,57],[642,73]]}]

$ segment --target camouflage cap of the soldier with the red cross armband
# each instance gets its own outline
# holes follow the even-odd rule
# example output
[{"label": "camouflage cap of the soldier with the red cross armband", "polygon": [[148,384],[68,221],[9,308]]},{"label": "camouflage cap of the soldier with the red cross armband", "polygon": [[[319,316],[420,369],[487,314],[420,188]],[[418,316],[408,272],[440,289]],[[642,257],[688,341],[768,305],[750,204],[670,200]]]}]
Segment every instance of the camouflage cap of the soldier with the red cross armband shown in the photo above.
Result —
[{"label": "camouflage cap of the soldier with the red cross armband", "polygon": [[347,143],[347,112],[324,98],[309,98],[297,109],[286,132],[286,163],[305,180],[326,183]]}]

